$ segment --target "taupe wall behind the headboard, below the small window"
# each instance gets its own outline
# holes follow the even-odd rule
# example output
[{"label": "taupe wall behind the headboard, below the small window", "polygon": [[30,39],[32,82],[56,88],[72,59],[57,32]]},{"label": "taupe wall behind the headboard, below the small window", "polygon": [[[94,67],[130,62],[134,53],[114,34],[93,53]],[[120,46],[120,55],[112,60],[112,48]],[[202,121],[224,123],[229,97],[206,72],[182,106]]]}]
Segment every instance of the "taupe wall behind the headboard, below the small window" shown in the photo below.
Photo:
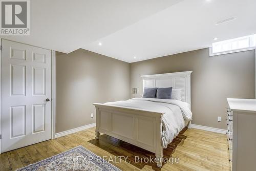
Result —
[{"label": "taupe wall behind the headboard, below the small window", "polygon": [[130,85],[140,97],[140,75],[191,70],[192,123],[226,129],[226,98],[254,98],[254,65],[254,50],[209,57],[207,48],[131,63]]}]

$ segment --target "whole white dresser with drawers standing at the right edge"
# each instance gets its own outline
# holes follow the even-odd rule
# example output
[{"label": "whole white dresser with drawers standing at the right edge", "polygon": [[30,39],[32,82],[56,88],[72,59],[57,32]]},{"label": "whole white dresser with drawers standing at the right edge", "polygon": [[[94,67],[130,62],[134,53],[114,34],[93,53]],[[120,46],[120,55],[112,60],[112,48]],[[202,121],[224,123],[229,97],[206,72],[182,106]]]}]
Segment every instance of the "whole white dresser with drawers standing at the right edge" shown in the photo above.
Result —
[{"label": "whole white dresser with drawers standing at the right edge", "polygon": [[231,170],[256,170],[256,99],[228,98],[227,141]]}]

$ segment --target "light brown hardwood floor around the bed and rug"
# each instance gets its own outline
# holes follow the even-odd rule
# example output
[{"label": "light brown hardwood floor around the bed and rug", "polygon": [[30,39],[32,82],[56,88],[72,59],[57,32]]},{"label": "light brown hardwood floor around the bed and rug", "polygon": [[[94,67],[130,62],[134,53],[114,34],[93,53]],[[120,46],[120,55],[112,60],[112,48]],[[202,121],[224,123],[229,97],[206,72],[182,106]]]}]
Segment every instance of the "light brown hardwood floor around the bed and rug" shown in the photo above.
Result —
[{"label": "light brown hardwood floor around the bed and rug", "polygon": [[[94,128],[74,134],[33,144],[0,155],[0,170],[16,170],[34,162],[49,158],[70,148],[82,145],[96,155],[114,164],[121,170],[230,170],[226,135],[197,129],[183,130],[172,143],[163,150],[167,159],[179,158],[179,163],[171,160],[158,168],[156,163],[135,162],[135,156],[154,158],[155,155],[129,143],[108,135],[94,139]],[[125,156],[125,162],[113,163],[115,156]]]}]

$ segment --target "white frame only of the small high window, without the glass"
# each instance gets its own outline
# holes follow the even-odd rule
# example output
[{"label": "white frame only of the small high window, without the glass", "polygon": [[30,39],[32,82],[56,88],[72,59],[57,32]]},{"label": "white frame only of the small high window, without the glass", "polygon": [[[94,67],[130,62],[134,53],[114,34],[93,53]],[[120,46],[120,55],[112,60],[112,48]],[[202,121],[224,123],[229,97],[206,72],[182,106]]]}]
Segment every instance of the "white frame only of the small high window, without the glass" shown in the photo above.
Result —
[{"label": "white frame only of the small high window, without the glass", "polygon": [[[249,37],[250,38],[250,47],[246,47],[246,48],[241,48],[241,49],[234,49],[234,50],[229,50],[229,51],[222,51],[222,52],[217,52],[217,53],[213,53],[212,51],[212,47],[209,48],[209,56],[217,56],[217,55],[223,55],[223,54],[229,54],[229,53],[236,53],[236,52],[242,52],[242,51],[249,51],[249,50],[254,50],[255,49],[255,42],[253,41],[256,41],[256,35],[250,35],[250,36],[244,36],[244,37]],[[232,42],[233,41],[236,41],[237,39],[242,39],[244,37],[239,37],[239,38],[234,38],[234,39],[230,39],[230,40],[225,40],[225,41],[221,41],[221,42],[227,42],[227,41],[230,41]],[[253,40],[254,38],[254,40]],[[220,44],[221,44],[220,42]],[[253,45],[254,43],[254,45]]]}]

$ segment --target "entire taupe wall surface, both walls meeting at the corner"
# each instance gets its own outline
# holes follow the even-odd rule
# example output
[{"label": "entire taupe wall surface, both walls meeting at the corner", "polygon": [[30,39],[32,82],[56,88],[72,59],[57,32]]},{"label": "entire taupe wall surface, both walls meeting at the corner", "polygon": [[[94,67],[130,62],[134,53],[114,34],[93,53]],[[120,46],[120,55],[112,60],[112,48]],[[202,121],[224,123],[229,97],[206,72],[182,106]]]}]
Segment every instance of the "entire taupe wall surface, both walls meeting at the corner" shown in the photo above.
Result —
[{"label": "entire taupe wall surface, both walls meeting at the corner", "polygon": [[[193,123],[226,129],[226,98],[254,98],[255,52],[209,57],[201,49],[135,63],[86,50],[56,55],[56,133],[95,122],[92,103],[140,97],[140,75],[193,71]],[[91,118],[94,113],[94,118]],[[222,117],[222,122],[217,121]]]}]

